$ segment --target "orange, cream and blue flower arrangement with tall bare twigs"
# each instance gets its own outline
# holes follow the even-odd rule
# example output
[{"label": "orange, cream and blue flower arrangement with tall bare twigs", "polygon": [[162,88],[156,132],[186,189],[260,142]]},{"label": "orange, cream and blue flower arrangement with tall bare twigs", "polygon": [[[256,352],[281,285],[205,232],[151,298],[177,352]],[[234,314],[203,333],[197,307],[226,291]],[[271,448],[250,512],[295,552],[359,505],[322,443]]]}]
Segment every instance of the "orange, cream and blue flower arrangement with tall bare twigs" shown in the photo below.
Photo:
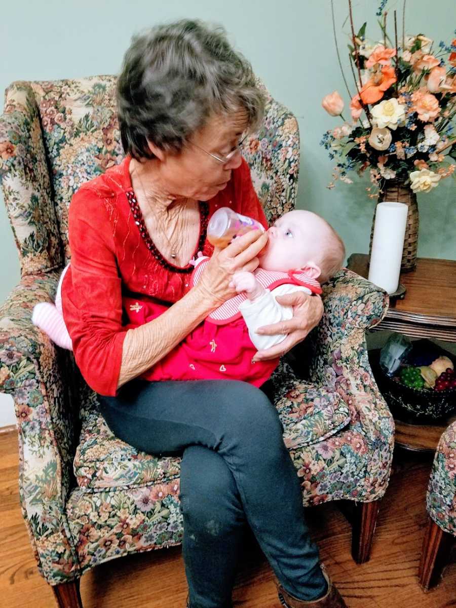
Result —
[{"label": "orange, cream and blue flower arrangement with tall bare twigs", "polygon": [[[410,185],[416,193],[430,192],[441,179],[456,177],[452,162],[456,159],[456,135],[452,134],[456,115],[456,38],[450,45],[440,42],[434,50],[433,41],[423,34],[406,35],[404,0],[399,44],[396,12],[391,40],[385,4],[387,1],[382,0],[377,12],[382,18],[382,40],[375,42],[365,35],[366,23],[354,33],[348,0],[354,95],[343,70],[342,76],[350,95],[351,121],[344,119],[344,100],[337,91],[322,101],[331,116],[343,120],[342,125],[326,131],[320,142],[330,159],[337,160],[328,188],[334,187],[336,179],[351,184],[350,171],[361,175],[368,170],[370,198],[383,192],[392,179]],[[336,51],[342,69],[337,40]]]}]

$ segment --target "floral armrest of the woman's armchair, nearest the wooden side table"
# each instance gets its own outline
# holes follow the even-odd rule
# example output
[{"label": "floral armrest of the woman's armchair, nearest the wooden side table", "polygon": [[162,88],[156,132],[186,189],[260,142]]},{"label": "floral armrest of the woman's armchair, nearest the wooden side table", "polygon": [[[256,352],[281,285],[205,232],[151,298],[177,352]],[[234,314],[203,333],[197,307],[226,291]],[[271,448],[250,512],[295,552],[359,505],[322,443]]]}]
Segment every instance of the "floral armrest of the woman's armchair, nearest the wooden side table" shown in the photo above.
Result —
[{"label": "floral armrest of the woman's armchair, nearest the wooden side table", "polygon": [[337,390],[350,407],[351,425],[361,423],[370,441],[379,432],[392,441],[392,416],[373,377],[365,340],[365,332],[387,313],[388,294],[342,269],[323,286],[322,297],[323,318],[299,345],[294,368],[300,361],[299,372],[309,381]]}]

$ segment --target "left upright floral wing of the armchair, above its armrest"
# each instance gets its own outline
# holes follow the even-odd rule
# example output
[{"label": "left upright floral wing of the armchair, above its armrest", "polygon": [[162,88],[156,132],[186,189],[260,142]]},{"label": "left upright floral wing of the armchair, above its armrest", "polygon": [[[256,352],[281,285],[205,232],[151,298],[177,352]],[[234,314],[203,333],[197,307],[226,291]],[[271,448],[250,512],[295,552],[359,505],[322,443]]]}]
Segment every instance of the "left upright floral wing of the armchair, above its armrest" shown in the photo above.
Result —
[{"label": "left upright floral wing of the armchair, above its armrest", "polygon": [[21,261],[21,276],[63,266],[40,112],[31,83],[5,92],[0,116],[0,184]]}]

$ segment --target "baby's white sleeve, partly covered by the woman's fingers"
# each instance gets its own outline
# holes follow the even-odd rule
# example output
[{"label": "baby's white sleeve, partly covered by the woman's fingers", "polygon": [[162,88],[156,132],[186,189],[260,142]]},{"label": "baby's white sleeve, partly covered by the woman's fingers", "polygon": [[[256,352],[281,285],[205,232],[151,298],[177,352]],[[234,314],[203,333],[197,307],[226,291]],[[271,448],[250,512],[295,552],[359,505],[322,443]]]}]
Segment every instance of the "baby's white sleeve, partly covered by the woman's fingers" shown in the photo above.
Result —
[{"label": "baby's white sleeve, partly covered by the woman's fingers", "polygon": [[263,294],[257,300],[250,302],[244,300],[239,306],[239,310],[244,317],[247,328],[249,328],[250,340],[254,343],[258,350],[265,350],[276,344],[280,344],[285,340],[285,334],[275,334],[274,336],[262,336],[257,334],[255,330],[263,325],[272,325],[280,321],[288,321],[293,316],[292,306],[283,306],[279,304],[275,297],[277,295],[292,294],[294,291],[303,291],[311,295],[309,288],[301,285],[292,285],[287,283],[279,285],[272,291],[265,289]]}]

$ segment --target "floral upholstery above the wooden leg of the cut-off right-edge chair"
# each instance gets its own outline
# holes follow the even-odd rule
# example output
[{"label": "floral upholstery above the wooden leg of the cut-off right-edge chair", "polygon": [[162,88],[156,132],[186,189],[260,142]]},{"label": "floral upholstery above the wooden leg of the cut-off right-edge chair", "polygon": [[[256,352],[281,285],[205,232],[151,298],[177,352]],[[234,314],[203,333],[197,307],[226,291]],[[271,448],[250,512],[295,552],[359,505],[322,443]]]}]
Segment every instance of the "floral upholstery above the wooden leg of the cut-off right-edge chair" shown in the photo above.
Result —
[{"label": "floral upholstery above the wooden leg of the cut-off right-edge chair", "polygon": [[427,512],[445,532],[456,536],[456,422],[438,442],[426,495]]}]

